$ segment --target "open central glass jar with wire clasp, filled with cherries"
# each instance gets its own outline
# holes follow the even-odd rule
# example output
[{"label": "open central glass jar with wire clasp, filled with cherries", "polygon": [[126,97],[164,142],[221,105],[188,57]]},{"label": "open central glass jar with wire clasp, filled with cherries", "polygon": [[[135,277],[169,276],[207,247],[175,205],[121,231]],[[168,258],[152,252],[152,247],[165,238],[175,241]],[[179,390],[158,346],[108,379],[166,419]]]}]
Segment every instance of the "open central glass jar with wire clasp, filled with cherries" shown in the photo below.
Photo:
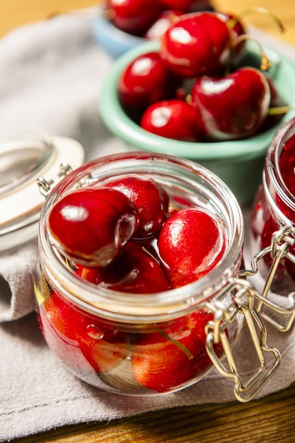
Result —
[{"label": "open central glass jar with wire clasp, filled with cherries", "polygon": [[[226,252],[207,275],[156,294],[116,292],[82,280],[50,243],[46,221],[55,202],[76,188],[130,173],[160,183],[173,207],[201,207],[221,219]],[[46,183],[42,188],[48,190]],[[76,376],[106,391],[141,396],[178,391],[215,366],[235,379],[236,397],[248,401],[260,389],[253,389],[260,377],[248,383],[249,389],[243,386],[231,349],[247,323],[263,366],[264,343],[258,335],[264,326],[258,319],[257,335],[253,325],[257,316],[249,315],[252,289],[237,278],[243,233],[243,215],[231,190],[192,161],[133,152],[105,156],[77,168],[47,193],[40,215],[35,296],[47,344]],[[279,364],[279,352],[267,350],[275,362],[272,369],[260,371],[263,378],[269,378]],[[229,369],[221,363],[224,356]],[[258,380],[261,386],[264,383]]]}]

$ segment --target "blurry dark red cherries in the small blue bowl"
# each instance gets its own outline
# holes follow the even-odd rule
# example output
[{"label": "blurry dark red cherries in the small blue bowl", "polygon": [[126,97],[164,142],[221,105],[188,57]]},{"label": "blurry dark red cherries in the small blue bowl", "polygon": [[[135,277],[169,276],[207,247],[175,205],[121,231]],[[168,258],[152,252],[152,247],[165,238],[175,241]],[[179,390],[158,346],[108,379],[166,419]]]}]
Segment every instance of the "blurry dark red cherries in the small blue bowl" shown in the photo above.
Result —
[{"label": "blurry dark red cherries in the small blue bowl", "polygon": [[208,0],[106,0],[105,16],[118,29],[138,37],[159,38],[184,13],[211,9]]}]

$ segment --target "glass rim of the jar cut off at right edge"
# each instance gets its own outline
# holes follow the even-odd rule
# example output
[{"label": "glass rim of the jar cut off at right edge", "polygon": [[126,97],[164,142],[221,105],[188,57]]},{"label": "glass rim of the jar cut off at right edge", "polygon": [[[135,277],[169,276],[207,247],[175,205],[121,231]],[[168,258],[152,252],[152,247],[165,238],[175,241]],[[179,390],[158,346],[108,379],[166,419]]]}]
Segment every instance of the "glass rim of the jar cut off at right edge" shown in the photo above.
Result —
[{"label": "glass rim of the jar cut off at right edge", "polygon": [[[270,149],[267,151],[266,168],[263,174],[263,182],[268,200],[270,200],[272,209],[277,214],[277,217],[285,224],[290,224],[288,217],[284,215],[274,201],[274,196],[277,195],[284,206],[295,212],[295,198],[287,188],[282,178],[282,173],[279,167],[279,158],[284,149],[287,140],[295,134],[295,118],[284,123],[279,130],[274,134]],[[292,221],[294,223],[294,221]]]}]

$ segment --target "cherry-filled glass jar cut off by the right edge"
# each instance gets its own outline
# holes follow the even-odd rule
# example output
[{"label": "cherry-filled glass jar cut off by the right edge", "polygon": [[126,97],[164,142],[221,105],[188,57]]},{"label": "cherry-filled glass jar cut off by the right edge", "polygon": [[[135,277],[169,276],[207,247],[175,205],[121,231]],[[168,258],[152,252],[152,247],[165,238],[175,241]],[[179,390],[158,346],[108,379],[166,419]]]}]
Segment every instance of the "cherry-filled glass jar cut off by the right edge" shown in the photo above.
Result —
[{"label": "cherry-filled glass jar cut off by the right edge", "polygon": [[294,152],[295,118],[272,139],[250,222],[250,253],[261,255],[259,274],[272,292],[284,296],[295,287]]}]

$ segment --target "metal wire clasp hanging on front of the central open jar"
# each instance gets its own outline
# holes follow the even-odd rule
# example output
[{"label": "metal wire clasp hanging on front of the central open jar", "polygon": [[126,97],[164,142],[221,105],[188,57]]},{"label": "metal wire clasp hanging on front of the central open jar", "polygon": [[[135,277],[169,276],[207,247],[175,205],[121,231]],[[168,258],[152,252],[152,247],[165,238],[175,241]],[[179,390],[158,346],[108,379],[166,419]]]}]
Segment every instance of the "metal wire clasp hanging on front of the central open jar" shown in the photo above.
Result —
[{"label": "metal wire clasp hanging on front of the central open jar", "polygon": [[[231,294],[231,297],[229,297]],[[252,400],[277,371],[281,362],[279,351],[268,347],[267,332],[258,312],[253,306],[255,289],[246,280],[233,280],[219,295],[218,299],[209,301],[206,306],[214,313],[214,321],[207,323],[207,352],[219,373],[234,381],[234,394],[242,403]],[[226,335],[225,323],[231,323],[238,313],[243,314],[245,326],[248,326],[250,338],[253,341],[259,367],[247,381],[242,381],[238,371],[229,340]],[[224,360],[216,355],[214,344],[221,342],[224,348],[227,366]],[[272,355],[272,362],[266,362],[265,354]]]}]

